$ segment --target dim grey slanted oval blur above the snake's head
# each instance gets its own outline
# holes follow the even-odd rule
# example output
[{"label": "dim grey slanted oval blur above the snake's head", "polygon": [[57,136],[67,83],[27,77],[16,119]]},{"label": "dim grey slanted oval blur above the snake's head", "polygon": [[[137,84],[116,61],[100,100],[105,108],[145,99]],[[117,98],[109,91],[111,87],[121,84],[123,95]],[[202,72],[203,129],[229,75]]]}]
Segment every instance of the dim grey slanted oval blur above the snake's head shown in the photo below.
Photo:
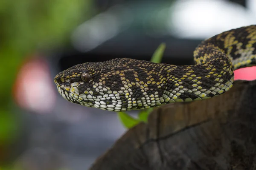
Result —
[{"label": "dim grey slanted oval blur above the snake's head", "polygon": [[79,51],[90,51],[128,28],[131,22],[128,8],[114,6],[76,28],[72,35],[73,45]]}]

